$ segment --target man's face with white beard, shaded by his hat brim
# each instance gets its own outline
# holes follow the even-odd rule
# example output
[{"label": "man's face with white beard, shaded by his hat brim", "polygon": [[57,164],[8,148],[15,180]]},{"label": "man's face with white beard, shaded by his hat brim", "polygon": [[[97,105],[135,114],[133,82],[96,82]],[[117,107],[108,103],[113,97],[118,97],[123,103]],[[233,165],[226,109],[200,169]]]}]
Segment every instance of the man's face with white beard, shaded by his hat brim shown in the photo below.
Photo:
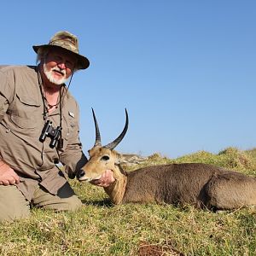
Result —
[{"label": "man's face with white beard, shaded by his hat brim", "polygon": [[76,59],[63,49],[51,49],[44,60],[44,74],[53,84],[63,84],[73,73]]}]

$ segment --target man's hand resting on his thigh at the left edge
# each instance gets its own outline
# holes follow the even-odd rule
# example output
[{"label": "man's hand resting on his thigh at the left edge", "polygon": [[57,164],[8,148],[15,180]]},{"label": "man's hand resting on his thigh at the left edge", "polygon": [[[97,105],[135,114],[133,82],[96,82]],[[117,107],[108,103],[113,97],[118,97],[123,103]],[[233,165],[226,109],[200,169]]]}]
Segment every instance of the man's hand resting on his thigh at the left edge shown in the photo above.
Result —
[{"label": "man's hand resting on his thigh at the left edge", "polygon": [[0,161],[0,185],[8,186],[20,183],[20,177],[5,162]]}]

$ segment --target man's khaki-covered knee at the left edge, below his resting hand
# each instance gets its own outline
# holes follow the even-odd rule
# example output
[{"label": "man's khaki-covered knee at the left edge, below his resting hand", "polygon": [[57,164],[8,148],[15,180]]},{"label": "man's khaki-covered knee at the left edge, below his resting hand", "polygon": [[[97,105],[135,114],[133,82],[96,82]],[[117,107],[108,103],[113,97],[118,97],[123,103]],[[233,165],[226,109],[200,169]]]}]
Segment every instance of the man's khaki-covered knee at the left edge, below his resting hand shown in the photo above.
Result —
[{"label": "man's khaki-covered knee at the left edge, below his resting hand", "polygon": [[0,185],[0,223],[27,218],[30,215],[29,202],[14,185]]}]

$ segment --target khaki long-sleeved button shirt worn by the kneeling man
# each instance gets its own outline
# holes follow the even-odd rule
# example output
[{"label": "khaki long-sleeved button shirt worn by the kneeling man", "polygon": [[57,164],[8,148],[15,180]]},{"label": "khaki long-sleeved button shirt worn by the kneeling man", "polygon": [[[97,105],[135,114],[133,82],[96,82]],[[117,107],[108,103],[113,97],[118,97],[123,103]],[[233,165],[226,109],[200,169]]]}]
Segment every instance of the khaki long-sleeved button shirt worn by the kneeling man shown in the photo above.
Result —
[{"label": "khaki long-sleeved button shirt worn by the kneeling man", "polygon": [[39,141],[47,119],[37,70],[28,66],[0,67],[0,154],[20,176],[16,186],[28,201],[37,183],[56,195],[67,182],[55,163],[61,162],[73,177],[87,161],[79,141],[79,106],[66,87],[61,113],[56,108],[47,117],[54,128],[61,122],[63,148],[50,148],[50,137],[44,143]]}]

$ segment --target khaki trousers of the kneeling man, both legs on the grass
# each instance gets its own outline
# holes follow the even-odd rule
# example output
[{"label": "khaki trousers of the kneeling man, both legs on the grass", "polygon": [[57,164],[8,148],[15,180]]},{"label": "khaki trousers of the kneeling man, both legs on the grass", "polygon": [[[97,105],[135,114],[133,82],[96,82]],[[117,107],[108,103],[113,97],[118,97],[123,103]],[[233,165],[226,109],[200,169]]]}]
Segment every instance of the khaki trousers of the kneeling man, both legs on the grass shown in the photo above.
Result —
[{"label": "khaki trousers of the kneeling man, both legs on the grass", "polygon": [[82,206],[82,202],[74,194],[69,183],[65,183],[59,189],[58,195],[51,195],[38,185],[34,190],[31,203],[14,185],[0,185],[0,223],[29,217],[32,206],[56,212],[75,211]]}]

